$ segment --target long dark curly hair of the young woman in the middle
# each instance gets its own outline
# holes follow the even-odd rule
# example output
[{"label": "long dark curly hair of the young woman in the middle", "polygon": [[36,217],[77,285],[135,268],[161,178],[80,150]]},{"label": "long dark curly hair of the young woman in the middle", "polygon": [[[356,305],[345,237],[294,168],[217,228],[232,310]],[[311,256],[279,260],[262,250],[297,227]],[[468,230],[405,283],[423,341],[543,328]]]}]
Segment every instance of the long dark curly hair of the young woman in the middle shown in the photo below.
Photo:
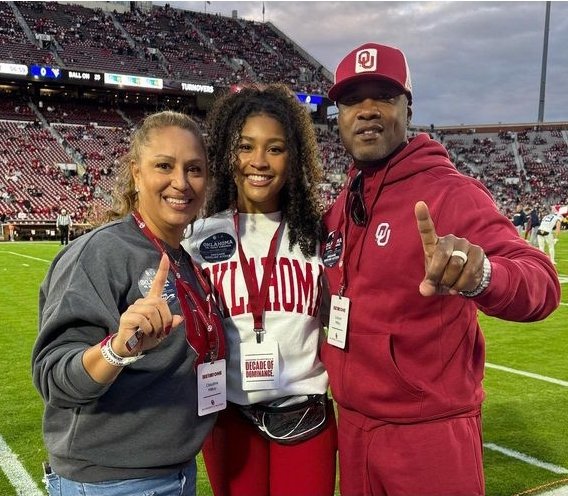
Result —
[{"label": "long dark curly hair of the young woman in the middle", "polygon": [[245,121],[267,115],[283,127],[288,150],[288,178],[280,192],[280,210],[288,223],[290,248],[305,256],[316,252],[322,239],[322,211],[318,185],[322,165],[311,118],[296,95],[285,85],[245,86],[238,93],[219,97],[208,115],[208,158],[211,184],[206,214],[236,208],[238,145]]}]

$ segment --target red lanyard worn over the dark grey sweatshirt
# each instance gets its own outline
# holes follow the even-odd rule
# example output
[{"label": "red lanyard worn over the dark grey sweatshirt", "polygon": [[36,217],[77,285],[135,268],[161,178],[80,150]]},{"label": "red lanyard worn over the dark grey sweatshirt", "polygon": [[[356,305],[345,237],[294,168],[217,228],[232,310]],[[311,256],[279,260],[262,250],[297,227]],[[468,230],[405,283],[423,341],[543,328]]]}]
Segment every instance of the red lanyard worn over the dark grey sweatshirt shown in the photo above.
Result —
[{"label": "red lanyard worn over the dark grey sweatshirt", "polygon": [[[140,230],[153,243],[158,251],[168,255],[170,259],[170,271],[175,276],[176,292],[181,310],[185,317],[185,337],[188,344],[197,353],[197,364],[203,363],[206,360],[213,362],[218,358],[224,358],[225,338],[223,334],[223,324],[221,323],[218,313],[214,311],[211,287],[203,273],[199,267],[195,265],[193,260],[189,258],[197,281],[205,293],[205,300],[182,278],[180,267],[164,249],[160,240],[150,231],[146,223],[140,217],[140,214],[138,212],[132,212],[132,217],[134,217]],[[194,311],[192,311],[192,307],[195,309]],[[197,313],[198,319],[195,318],[194,312]]]}]

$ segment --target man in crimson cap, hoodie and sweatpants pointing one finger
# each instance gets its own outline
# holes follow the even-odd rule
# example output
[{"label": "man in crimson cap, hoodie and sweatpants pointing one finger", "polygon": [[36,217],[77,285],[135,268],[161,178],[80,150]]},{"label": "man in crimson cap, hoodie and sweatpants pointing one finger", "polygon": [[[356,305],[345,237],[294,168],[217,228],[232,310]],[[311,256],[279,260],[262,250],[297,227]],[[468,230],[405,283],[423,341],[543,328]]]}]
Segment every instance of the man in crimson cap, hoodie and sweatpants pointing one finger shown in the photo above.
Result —
[{"label": "man in crimson cap, hoodie and sweatpants pointing one finger", "polygon": [[560,300],[555,268],[440,143],[407,137],[412,87],[400,50],[354,49],[329,96],[353,157],[322,252],[341,494],[482,495],[477,310],[544,319]]}]

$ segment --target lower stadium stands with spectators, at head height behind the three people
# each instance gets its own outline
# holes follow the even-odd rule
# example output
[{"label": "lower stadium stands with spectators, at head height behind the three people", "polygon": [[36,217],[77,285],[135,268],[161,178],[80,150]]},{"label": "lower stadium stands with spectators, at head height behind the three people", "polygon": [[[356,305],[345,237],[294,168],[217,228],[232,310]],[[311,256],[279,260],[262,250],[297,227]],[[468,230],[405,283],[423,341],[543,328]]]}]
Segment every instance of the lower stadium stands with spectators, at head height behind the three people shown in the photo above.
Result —
[{"label": "lower stadium stands with spectators, at head height behind the three people", "polygon": [[[92,104],[70,102],[52,111],[44,106],[49,123],[45,127],[24,110],[29,105],[16,103],[18,112],[10,111],[8,101],[0,98],[0,214],[15,220],[53,220],[64,205],[74,223],[85,222],[93,204],[107,204],[119,158],[141,116],[131,119],[128,109],[97,113]],[[40,106],[35,107],[40,112]],[[334,126],[317,125],[316,131],[325,171],[322,201],[329,205],[343,187],[350,159]],[[482,181],[509,217],[519,203],[543,212],[550,204],[568,203],[565,134],[527,130],[513,139],[507,132],[457,130],[433,135],[445,144],[458,170]],[[77,168],[69,168],[77,163]]]}]

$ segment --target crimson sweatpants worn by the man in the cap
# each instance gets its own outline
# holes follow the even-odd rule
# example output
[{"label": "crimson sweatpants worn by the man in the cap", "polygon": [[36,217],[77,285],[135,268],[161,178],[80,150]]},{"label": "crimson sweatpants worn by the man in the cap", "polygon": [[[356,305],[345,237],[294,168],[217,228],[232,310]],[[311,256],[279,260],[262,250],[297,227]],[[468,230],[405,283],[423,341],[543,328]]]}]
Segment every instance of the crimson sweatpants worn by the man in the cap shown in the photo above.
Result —
[{"label": "crimson sweatpants worn by the man in the cap", "polygon": [[481,416],[360,428],[339,409],[342,496],[482,496]]}]

